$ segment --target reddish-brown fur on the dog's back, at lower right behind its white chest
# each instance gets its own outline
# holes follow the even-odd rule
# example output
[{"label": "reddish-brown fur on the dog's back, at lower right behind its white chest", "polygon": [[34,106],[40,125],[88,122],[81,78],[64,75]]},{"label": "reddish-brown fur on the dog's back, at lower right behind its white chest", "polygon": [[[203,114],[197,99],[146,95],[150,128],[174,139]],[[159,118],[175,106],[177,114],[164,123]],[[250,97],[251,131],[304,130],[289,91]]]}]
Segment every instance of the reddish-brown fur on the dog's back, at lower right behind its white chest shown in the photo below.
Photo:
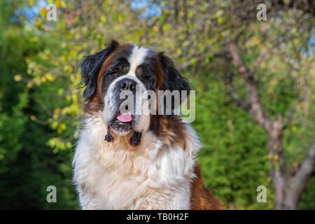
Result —
[{"label": "reddish-brown fur on the dog's back, at lower right behind its white chest", "polygon": [[200,167],[195,167],[196,178],[190,188],[190,209],[192,210],[223,210],[225,206],[204,186]]}]

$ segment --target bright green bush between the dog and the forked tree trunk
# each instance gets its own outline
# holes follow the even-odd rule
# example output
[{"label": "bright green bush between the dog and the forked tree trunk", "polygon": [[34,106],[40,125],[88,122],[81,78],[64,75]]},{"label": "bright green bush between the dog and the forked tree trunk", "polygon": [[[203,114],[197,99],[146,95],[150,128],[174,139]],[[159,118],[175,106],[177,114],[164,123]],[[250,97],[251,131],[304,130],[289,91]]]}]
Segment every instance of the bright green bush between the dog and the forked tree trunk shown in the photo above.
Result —
[{"label": "bright green bush between the dog and the forked tree trunk", "polygon": [[265,132],[244,111],[228,106],[225,87],[213,75],[203,83],[195,84],[193,126],[204,144],[199,162],[207,186],[231,208],[272,209],[272,192],[267,203],[256,201],[258,186],[272,188]]}]

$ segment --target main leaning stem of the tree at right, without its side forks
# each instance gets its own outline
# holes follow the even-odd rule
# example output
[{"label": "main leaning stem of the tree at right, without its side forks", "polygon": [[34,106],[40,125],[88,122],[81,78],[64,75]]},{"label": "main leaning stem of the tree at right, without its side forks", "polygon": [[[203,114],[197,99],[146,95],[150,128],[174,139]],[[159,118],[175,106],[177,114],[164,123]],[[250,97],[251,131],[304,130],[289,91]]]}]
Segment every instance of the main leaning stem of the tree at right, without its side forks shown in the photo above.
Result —
[{"label": "main leaning stem of the tree at right, without its side forks", "polygon": [[258,85],[255,82],[253,73],[248,69],[243,60],[239,48],[235,41],[227,42],[227,48],[232,59],[232,64],[238,73],[244,78],[246,84],[246,99],[249,104],[249,114],[259,125],[261,125],[267,134],[269,140],[267,148],[269,151],[271,176],[276,190],[276,208],[281,209],[284,202],[284,191],[286,188],[286,163],[283,156],[282,145],[282,118],[278,117],[272,120],[265,115],[262,103],[258,93]]}]

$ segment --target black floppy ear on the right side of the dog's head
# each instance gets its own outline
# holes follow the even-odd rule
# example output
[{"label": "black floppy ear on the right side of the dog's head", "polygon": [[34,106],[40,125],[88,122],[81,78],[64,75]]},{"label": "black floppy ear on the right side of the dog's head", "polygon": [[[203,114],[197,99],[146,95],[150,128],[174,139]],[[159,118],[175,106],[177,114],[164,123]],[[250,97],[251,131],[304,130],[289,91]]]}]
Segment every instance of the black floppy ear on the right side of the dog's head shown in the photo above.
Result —
[{"label": "black floppy ear on the right side of the dog's head", "polygon": [[[163,90],[170,90],[171,92],[174,90],[179,90],[180,94],[182,90],[187,90],[188,96],[190,91],[190,85],[188,83],[188,80],[181,76],[181,73],[179,73],[179,69],[177,69],[176,66],[174,66],[174,62],[171,58],[164,55],[163,52],[159,53],[159,57],[164,78]],[[183,102],[183,100],[184,98],[181,97],[181,102]]]}]

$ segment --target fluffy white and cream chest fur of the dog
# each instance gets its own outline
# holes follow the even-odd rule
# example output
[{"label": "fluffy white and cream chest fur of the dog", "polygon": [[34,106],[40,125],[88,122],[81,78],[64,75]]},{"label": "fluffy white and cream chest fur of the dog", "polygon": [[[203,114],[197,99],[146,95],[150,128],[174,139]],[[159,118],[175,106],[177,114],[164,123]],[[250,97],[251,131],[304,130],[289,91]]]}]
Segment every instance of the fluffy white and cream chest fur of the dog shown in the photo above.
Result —
[{"label": "fluffy white and cream chest fur of the dog", "polygon": [[104,141],[102,116],[85,119],[73,158],[74,182],[83,209],[190,209],[199,141],[187,125],[186,148],[169,148],[151,132],[137,149],[124,139]]}]

